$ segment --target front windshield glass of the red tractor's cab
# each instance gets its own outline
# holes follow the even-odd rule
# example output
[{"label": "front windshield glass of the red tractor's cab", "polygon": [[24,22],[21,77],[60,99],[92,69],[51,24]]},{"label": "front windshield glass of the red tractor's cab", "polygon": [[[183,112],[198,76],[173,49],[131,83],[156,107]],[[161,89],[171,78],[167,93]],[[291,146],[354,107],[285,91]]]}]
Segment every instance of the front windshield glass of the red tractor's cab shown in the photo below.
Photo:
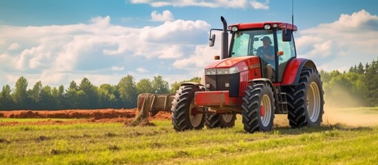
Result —
[{"label": "front windshield glass of the red tractor's cab", "polygon": [[[269,39],[268,39],[269,37]],[[274,47],[272,30],[244,30],[233,35],[231,56],[258,55],[259,47],[263,47],[263,40]],[[268,41],[269,40],[269,41]],[[266,46],[266,45],[265,45]]]}]

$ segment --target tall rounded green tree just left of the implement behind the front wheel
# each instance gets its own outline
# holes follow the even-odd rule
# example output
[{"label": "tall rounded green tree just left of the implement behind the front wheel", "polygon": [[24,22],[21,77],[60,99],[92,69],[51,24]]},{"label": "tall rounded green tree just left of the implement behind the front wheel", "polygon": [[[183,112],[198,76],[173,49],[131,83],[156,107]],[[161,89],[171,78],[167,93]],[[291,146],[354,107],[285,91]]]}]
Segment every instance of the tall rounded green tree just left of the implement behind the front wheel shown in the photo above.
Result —
[{"label": "tall rounded green tree just left of the implement behind the front wheel", "polygon": [[134,77],[127,75],[120,79],[118,83],[118,92],[120,100],[123,102],[125,108],[136,107],[136,99],[138,98]]}]

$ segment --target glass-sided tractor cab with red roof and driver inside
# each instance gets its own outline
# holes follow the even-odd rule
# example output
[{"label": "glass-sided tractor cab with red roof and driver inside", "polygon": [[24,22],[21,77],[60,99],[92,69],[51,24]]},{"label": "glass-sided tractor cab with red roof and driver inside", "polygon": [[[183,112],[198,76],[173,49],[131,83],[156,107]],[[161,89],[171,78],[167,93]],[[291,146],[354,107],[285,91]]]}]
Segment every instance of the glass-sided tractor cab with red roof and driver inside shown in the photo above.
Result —
[{"label": "glass-sided tractor cab with red roof and driver inside", "polygon": [[258,56],[262,78],[280,83],[288,61],[296,57],[292,36],[296,30],[296,26],[281,22],[230,25],[231,45],[223,58]]}]

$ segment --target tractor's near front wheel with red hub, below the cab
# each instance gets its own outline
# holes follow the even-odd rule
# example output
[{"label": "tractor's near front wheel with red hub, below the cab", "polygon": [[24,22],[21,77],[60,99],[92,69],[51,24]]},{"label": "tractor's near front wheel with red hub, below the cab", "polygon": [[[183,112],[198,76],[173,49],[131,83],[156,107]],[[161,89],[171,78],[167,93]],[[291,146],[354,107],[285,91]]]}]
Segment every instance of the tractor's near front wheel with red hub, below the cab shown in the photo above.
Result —
[{"label": "tractor's near front wheel with red hub, below the cab", "polygon": [[249,133],[271,131],[275,111],[272,88],[266,83],[253,83],[245,93],[242,103],[244,130]]}]

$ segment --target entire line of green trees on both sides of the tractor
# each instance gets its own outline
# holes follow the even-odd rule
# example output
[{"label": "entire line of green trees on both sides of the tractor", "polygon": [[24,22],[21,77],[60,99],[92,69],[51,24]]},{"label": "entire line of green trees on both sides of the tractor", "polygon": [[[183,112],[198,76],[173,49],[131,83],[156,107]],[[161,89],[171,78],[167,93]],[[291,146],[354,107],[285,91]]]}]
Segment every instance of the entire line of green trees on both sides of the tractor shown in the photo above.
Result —
[{"label": "entire line of green trees on both sides of the tractor", "polygon": [[[378,61],[350,67],[348,72],[320,71],[325,91],[326,105],[337,107],[378,106]],[[143,78],[135,82],[127,75],[117,85],[93,85],[83,78],[81,83],[72,81],[69,87],[50,87],[41,81],[28,89],[28,80],[20,77],[14,89],[4,85],[0,92],[0,110],[57,110],[57,109],[120,109],[134,108],[138,94],[175,93],[183,82],[200,83],[199,77],[169,84],[162,76],[152,80]]]}]

